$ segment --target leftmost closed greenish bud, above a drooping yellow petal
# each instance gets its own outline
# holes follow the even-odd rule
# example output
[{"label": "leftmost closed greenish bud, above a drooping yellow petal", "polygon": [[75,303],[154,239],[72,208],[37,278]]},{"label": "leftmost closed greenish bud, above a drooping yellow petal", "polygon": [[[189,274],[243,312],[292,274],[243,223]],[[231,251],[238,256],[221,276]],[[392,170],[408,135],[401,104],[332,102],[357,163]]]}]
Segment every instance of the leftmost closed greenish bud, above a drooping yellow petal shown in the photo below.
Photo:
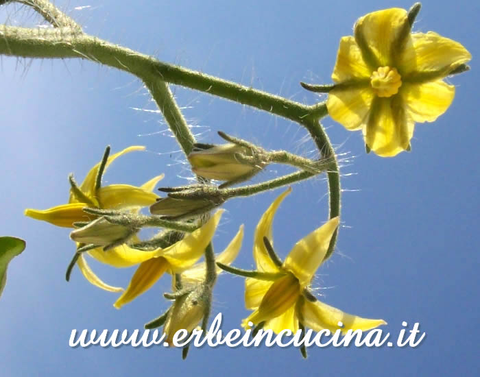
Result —
[{"label": "leftmost closed greenish bud, above a drooping yellow petal", "polygon": [[80,243],[93,243],[94,245],[111,245],[125,240],[132,234],[132,230],[126,226],[112,224],[104,217],[92,221],[87,226],[73,230],[70,238]]}]

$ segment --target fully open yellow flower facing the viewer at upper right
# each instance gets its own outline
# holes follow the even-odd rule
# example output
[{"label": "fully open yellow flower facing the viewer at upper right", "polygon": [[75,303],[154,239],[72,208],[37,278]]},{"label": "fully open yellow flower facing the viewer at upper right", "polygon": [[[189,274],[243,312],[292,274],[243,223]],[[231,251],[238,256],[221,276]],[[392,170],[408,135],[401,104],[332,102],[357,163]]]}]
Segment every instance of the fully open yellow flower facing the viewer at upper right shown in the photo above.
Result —
[{"label": "fully open yellow flower facing the viewer at upper right", "polygon": [[384,157],[409,150],[415,122],[446,111],[455,86],[442,79],[471,59],[454,40],[411,34],[408,15],[399,8],[369,13],[355,24],[355,37],[341,38],[326,103],[335,121],[362,130],[368,149]]}]

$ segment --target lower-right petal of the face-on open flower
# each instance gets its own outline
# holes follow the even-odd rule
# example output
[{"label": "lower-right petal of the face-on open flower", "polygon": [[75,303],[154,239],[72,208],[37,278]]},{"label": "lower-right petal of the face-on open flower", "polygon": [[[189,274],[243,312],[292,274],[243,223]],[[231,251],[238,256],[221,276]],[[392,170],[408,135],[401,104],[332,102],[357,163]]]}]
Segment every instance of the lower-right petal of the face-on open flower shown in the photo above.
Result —
[{"label": "lower-right petal of the face-on open flower", "polygon": [[416,122],[433,122],[440,117],[455,97],[455,86],[442,80],[425,84],[407,84],[401,95],[408,116]]}]

